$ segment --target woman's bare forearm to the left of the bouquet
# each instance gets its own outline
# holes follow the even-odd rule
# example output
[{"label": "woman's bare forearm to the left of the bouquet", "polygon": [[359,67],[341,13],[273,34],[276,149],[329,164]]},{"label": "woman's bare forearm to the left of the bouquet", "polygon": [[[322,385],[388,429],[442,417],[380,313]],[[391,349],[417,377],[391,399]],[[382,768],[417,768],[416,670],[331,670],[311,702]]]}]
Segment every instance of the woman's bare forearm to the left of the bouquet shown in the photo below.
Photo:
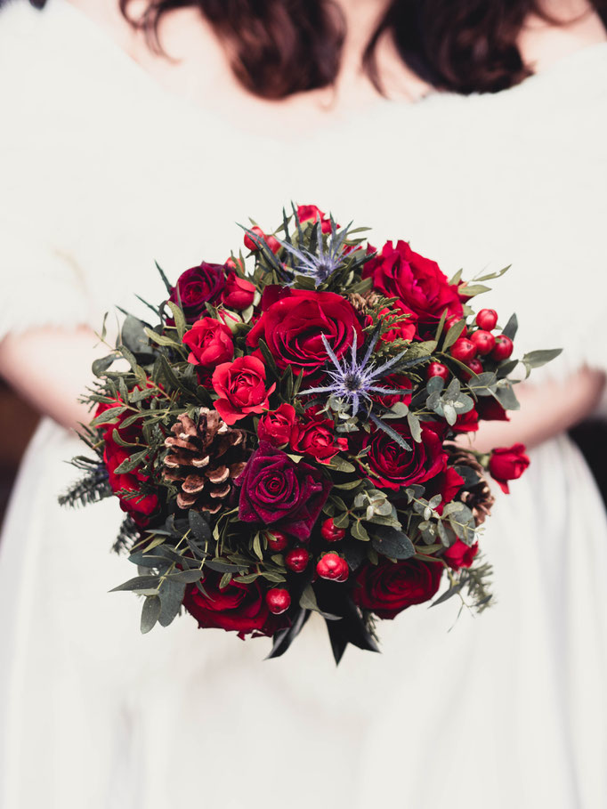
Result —
[{"label": "woman's bare forearm to the left of the bouquet", "polygon": [[0,375],[41,413],[69,429],[90,421],[78,401],[91,384],[91,364],[108,354],[89,328],[36,328],[0,342]]}]

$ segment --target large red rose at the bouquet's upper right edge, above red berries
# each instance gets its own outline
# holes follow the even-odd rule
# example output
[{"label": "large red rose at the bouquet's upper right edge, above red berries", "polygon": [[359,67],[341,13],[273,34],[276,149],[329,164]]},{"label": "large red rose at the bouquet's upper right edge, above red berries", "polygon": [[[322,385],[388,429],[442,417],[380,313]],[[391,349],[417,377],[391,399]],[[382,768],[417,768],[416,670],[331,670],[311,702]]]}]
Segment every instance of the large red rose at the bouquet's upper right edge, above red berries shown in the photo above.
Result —
[{"label": "large red rose at the bouquet's upper right edge, above red berries", "polygon": [[372,278],[373,287],[387,297],[400,298],[417,315],[424,339],[433,336],[443,311],[463,316],[457,285],[449,284],[439,265],[414,253],[406,241],[398,241],[396,247],[387,242],[381,254],[365,265],[362,277]]}]

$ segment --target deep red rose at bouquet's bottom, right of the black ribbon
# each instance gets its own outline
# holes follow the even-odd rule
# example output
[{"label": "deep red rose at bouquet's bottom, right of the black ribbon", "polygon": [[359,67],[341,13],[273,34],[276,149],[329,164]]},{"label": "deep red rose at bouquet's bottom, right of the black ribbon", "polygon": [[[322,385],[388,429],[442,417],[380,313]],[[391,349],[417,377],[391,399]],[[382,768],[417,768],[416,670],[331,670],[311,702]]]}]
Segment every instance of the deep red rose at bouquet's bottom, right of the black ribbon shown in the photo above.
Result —
[{"label": "deep red rose at bouquet's bottom, right of the black ribbon", "polygon": [[356,574],[352,598],[363,610],[393,619],[407,607],[429,601],[441,584],[442,570],[439,562],[419,559],[367,563]]}]

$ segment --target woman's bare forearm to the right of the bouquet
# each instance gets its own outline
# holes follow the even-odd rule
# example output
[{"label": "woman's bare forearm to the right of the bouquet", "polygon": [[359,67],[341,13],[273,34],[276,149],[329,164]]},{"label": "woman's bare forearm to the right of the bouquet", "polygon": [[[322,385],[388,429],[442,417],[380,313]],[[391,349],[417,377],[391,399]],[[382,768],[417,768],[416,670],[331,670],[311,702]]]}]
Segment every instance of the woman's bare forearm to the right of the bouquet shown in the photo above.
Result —
[{"label": "woman's bare forearm to the right of the bouquet", "polygon": [[[509,412],[510,421],[483,421],[471,433],[473,448],[489,452],[494,447],[522,443],[530,449],[578,424],[601,400],[605,375],[583,368],[559,382],[516,385],[520,410]],[[469,441],[463,437],[462,442]]]}]

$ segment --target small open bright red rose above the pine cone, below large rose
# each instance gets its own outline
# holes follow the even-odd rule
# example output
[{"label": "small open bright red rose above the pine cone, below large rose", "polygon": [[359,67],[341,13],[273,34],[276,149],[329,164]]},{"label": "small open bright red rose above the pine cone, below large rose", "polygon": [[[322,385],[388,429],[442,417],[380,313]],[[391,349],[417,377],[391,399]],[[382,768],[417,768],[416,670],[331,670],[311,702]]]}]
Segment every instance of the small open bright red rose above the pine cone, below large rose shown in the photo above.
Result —
[{"label": "small open bright red rose above the pine cone, below large rose", "polygon": [[239,357],[218,365],[213,372],[214,391],[219,395],[214,407],[226,425],[233,425],[249,413],[269,408],[268,397],[276,384],[265,389],[265,368],[256,357]]}]

